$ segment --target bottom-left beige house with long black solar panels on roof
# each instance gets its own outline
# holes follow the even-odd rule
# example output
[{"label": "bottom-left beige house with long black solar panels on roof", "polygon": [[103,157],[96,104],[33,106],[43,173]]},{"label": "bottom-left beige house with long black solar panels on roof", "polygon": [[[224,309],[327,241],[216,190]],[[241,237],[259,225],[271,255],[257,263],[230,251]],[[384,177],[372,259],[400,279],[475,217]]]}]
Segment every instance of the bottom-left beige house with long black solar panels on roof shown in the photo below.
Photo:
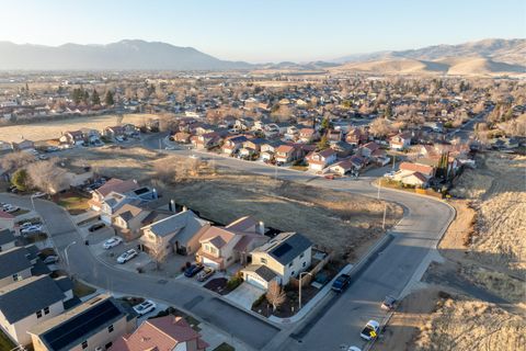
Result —
[{"label": "bottom-left beige house with long black solar panels on roof", "polygon": [[35,351],[107,350],[137,318],[111,295],[98,295],[30,329]]}]

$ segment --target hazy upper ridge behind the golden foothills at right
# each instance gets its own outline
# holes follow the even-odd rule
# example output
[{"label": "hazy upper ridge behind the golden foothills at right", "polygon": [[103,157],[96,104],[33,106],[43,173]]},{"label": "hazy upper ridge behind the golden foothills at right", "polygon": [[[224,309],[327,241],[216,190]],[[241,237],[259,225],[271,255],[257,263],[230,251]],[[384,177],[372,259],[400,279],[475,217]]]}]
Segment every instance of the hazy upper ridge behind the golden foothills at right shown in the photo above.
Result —
[{"label": "hazy upper ridge behind the golden foothills at right", "polygon": [[334,61],[343,64],[396,58],[437,60],[444,57],[483,57],[499,63],[526,66],[526,39],[483,39],[459,45],[435,45],[419,49],[350,55]]}]

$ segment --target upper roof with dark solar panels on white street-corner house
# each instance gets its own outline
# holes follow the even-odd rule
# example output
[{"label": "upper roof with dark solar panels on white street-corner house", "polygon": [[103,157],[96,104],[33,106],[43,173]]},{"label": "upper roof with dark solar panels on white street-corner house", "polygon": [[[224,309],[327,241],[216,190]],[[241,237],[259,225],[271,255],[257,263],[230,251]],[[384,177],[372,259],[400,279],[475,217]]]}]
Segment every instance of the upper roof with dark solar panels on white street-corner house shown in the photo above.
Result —
[{"label": "upper roof with dark solar panels on white street-corner house", "polygon": [[299,233],[282,233],[255,251],[266,252],[281,264],[286,265],[311,246],[312,242]]}]

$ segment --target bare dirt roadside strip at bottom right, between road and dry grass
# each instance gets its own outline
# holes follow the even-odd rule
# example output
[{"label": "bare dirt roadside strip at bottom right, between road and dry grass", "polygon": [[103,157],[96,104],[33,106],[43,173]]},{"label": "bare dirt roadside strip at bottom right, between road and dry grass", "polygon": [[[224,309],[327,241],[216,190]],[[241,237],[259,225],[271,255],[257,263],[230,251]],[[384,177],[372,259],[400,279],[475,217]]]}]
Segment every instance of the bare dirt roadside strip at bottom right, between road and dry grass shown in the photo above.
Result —
[{"label": "bare dirt roadside strip at bottom right, between road and dry grass", "polygon": [[389,325],[375,343],[375,350],[403,351],[414,349],[420,328],[434,312],[439,291],[433,287],[416,291],[403,298]]}]

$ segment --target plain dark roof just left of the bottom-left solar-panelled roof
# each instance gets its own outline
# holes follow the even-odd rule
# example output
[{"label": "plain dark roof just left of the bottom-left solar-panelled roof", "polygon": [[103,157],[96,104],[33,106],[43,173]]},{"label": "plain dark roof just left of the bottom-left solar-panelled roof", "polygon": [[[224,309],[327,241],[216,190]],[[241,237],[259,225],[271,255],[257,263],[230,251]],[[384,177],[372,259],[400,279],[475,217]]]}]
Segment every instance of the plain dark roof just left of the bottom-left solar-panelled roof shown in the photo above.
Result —
[{"label": "plain dark roof just left of the bottom-left solar-panelled roof", "polygon": [[49,275],[31,276],[0,288],[0,312],[13,324],[65,297]]}]

